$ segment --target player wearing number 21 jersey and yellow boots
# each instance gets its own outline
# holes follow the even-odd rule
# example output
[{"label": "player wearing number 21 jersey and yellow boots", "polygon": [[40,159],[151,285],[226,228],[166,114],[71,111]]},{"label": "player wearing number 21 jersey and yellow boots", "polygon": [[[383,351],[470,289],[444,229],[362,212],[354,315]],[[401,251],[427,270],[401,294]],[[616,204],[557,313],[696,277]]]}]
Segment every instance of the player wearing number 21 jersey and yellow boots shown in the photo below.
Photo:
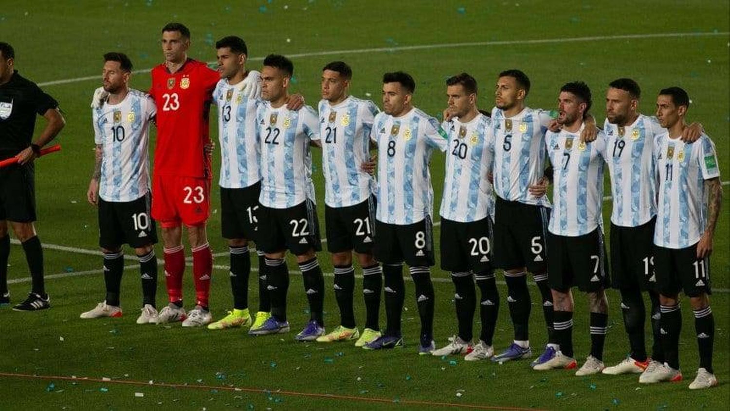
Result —
[{"label": "player wearing number 21 jersey and yellow boots", "polygon": [[[379,110],[372,101],[348,94],[352,77],[353,71],[344,61],[332,61],[322,69],[319,120],[327,249],[334,266],[333,288],[340,323],[317,341],[356,340],[356,347],[362,347],[381,335],[378,313],[383,271],[372,254],[375,181],[362,167],[369,161],[370,131]],[[362,334],[353,310],[353,251],[363,270],[366,320]]]}]

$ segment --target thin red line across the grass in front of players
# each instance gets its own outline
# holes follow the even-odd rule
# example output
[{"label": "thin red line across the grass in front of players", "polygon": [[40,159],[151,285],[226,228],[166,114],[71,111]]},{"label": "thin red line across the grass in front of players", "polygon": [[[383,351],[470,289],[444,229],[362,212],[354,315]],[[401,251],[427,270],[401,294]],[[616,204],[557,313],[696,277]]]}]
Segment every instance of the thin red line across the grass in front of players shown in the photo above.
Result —
[{"label": "thin red line across the grass in front of players", "polygon": [[[67,380],[67,381],[74,381],[77,383],[104,383],[104,384],[122,384],[122,385],[139,385],[139,386],[145,386],[145,387],[164,387],[164,388],[189,388],[189,389],[196,389],[196,390],[219,390],[219,391],[241,391],[241,392],[248,392],[248,393],[275,393],[278,395],[285,395],[285,396],[301,396],[301,397],[310,397],[310,398],[320,398],[320,399],[346,399],[351,401],[360,401],[360,402],[377,402],[377,403],[385,403],[385,404],[393,404],[393,399],[386,399],[386,398],[378,398],[378,397],[364,397],[364,396],[345,396],[345,395],[337,395],[337,394],[325,394],[325,393],[304,393],[299,391],[271,391],[271,390],[265,390],[262,388],[245,388],[245,387],[230,387],[226,385],[218,386],[218,385],[189,385],[189,384],[175,384],[175,383],[155,383],[155,382],[144,382],[144,381],[134,381],[134,380],[111,380],[111,379],[102,379],[102,378],[89,378],[89,377],[61,377],[57,375],[34,375],[34,374],[18,374],[13,372],[0,372],[0,377],[10,377],[10,378],[24,378],[24,379],[33,379],[33,380]],[[538,410],[537,408],[520,408],[520,407],[498,407],[498,406],[491,406],[491,405],[478,405],[478,404],[453,404],[450,402],[429,402],[429,401],[418,401],[418,400],[409,400],[409,399],[401,399],[397,402],[398,404],[405,404],[405,405],[425,405],[428,407],[451,407],[451,408],[468,408],[472,410],[510,410],[510,411],[527,411],[527,410]]]}]

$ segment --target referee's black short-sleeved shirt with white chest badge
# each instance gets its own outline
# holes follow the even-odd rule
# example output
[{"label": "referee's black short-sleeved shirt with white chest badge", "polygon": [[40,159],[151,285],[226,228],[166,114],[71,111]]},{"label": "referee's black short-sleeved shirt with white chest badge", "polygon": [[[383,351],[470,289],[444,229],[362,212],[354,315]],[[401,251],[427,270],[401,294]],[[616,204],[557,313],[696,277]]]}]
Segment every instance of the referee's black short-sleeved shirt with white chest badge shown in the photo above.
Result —
[{"label": "referee's black short-sleeved shirt with white chest badge", "polygon": [[33,139],[36,116],[58,107],[58,101],[18,74],[0,85],[0,160],[25,150]]}]

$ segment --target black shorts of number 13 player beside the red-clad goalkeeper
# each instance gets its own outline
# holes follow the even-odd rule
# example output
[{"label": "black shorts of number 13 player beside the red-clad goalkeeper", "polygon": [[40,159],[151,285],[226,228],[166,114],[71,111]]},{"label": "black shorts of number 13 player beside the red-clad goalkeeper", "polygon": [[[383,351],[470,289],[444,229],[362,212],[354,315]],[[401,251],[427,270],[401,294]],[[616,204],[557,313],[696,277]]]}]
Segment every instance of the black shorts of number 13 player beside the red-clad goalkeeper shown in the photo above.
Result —
[{"label": "black shorts of number 13 player beside the red-clad goalkeeper", "polygon": [[220,188],[220,231],[225,239],[256,240],[261,182],[245,188]]}]

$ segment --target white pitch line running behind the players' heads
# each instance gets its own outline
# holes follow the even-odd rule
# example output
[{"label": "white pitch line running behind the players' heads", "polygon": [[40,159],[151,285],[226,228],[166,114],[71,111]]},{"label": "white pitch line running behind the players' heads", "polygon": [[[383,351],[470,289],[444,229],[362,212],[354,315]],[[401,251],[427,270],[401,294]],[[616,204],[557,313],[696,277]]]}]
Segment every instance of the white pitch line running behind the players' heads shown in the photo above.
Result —
[{"label": "white pitch line running behind the players' heads", "polygon": [[[532,39],[532,40],[504,40],[504,41],[491,41],[491,42],[461,42],[461,43],[440,43],[434,45],[412,45],[412,46],[396,46],[396,47],[372,47],[372,48],[361,48],[361,49],[350,49],[350,50],[330,50],[330,51],[315,51],[308,53],[295,53],[289,54],[289,58],[300,58],[300,57],[317,57],[323,55],[342,55],[342,54],[362,54],[362,53],[385,53],[393,51],[409,51],[409,50],[430,50],[435,48],[453,48],[453,47],[483,47],[483,46],[504,46],[504,45],[545,45],[553,43],[567,43],[567,42],[596,42],[601,40],[631,40],[631,39],[662,39],[671,37],[715,37],[715,36],[727,36],[730,34],[728,31],[718,32],[706,32],[706,33],[654,33],[654,34],[621,34],[615,36],[590,36],[590,37],[566,37],[562,39]],[[249,61],[262,61],[263,57],[249,58]],[[215,61],[209,61],[208,64],[214,64]],[[140,69],[134,70],[134,74],[148,73],[152,69]],[[68,84],[70,82],[82,82],[89,80],[100,80],[101,76],[85,76],[85,77],[74,77],[64,80],[53,80],[47,82],[39,82],[40,87],[47,85],[58,85]]]}]

